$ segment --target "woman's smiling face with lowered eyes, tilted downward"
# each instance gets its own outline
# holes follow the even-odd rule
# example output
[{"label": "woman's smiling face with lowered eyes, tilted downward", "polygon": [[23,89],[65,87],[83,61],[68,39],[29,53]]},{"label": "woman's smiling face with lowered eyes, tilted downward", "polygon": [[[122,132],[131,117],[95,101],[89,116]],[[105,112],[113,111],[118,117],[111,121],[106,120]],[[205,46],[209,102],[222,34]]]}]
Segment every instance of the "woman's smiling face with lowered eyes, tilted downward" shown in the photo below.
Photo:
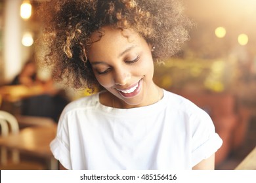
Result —
[{"label": "woman's smiling face with lowered eyes, tilted downward", "polygon": [[131,29],[103,27],[100,31],[103,35],[95,32],[91,36],[93,44],[88,54],[100,85],[118,98],[122,108],[156,102],[150,100],[158,97],[154,97],[158,93],[152,80],[151,46]]}]

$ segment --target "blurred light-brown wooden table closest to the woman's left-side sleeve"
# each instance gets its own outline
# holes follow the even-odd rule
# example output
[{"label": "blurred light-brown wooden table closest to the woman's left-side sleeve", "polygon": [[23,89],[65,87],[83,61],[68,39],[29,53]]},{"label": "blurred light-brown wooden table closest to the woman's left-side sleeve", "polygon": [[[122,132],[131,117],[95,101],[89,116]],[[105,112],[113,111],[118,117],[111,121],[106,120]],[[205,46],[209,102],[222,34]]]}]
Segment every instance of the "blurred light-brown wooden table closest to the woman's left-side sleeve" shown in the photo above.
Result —
[{"label": "blurred light-brown wooden table closest to the woman's left-side sleeve", "polygon": [[57,169],[57,161],[54,159],[49,144],[56,135],[56,125],[26,127],[18,134],[0,138],[0,146],[10,150],[18,150],[33,156],[40,156],[49,160],[49,169]]}]

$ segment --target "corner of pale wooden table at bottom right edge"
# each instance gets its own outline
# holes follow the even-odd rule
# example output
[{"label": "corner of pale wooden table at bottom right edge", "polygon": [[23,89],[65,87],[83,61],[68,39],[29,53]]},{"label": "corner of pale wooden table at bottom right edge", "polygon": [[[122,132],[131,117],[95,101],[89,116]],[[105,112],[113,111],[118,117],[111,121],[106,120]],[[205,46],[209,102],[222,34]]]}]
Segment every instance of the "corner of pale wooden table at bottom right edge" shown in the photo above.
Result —
[{"label": "corner of pale wooden table at bottom right edge", "polygon": [[236,167],[236,170],[256,170],[256,147]]}]

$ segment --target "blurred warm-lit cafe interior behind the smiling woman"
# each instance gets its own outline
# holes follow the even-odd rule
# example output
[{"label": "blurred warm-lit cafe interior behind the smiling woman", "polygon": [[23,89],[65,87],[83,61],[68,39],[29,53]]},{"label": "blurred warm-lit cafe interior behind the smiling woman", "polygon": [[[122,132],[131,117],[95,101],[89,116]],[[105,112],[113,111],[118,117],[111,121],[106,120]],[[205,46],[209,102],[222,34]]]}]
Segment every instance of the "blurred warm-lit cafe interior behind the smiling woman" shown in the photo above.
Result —
[{"label": "blurred warm-lit cafe interior behind the smiling woman", "polygon": [[[89,95],[55,83],[51,71],[37,66],[35,10],[42,1],[49,0],[0,0],[1,169],[57,169],[49,142],[60,112]],[[195,24],[190,40],[156,65],[154,80],[211,116],[223,139],[215,169],[256,169],[256,160],[248,160],[256,157],[256,1],[184,4]]]}]

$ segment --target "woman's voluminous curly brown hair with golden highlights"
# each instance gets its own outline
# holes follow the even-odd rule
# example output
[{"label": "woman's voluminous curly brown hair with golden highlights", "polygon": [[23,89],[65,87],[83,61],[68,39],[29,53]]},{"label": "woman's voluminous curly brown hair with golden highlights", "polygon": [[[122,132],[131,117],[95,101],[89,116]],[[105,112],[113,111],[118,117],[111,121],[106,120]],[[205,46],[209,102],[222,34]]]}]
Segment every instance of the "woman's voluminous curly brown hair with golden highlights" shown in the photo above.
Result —
[{"label": "woman's voluminous curly brown hair with golden highlights", "polygon": [[99,88],[87,61],[90,35],[105,25],[131,28],[155,46],[154,60],[170,58],[188,39],[190,20],[181,0],[52,0],[38,10],[43,34],[37,41],[41,64],[74,88]]}]

